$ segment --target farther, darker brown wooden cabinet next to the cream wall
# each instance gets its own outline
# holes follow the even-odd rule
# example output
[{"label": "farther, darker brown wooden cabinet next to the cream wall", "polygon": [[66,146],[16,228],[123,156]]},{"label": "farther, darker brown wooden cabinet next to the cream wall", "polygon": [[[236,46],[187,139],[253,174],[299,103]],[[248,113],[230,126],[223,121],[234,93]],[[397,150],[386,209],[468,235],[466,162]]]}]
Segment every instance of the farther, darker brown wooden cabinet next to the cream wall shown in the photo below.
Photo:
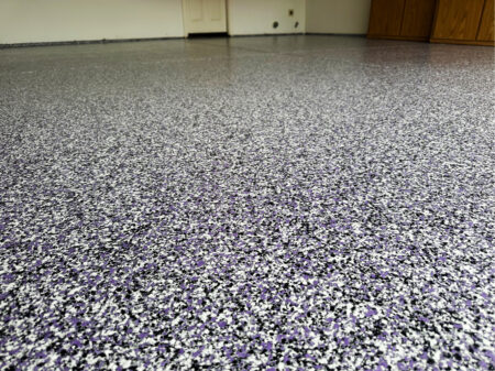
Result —
[{"label": "farther, darker brown wooden cabinet next to the cream wall", "polygon": [[428,40],[436,0],[373,0],[367,36]]}]

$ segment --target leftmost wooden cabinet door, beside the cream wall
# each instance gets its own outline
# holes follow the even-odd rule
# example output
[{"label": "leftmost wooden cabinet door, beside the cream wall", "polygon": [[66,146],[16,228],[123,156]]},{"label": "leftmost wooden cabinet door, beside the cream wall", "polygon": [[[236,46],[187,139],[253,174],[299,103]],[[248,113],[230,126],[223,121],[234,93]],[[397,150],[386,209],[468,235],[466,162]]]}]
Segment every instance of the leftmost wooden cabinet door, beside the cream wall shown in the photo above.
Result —
[{"label": "leftmost wooden cabinet door, beside the cream wall", "polygon": [[405,0],[373,0],[370,12],[370,35],[398,36]]}]

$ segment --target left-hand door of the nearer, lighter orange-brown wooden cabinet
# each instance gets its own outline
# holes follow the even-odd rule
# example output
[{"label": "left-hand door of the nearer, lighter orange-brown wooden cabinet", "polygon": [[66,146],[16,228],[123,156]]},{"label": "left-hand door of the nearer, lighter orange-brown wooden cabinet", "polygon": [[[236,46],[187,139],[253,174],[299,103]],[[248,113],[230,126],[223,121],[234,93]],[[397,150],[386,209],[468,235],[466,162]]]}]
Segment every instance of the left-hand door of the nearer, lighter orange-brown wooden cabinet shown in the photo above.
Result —
[{"label": "left-hand door of the nearer, lighter orange-brown wooden cabinet", "polygon": [[485,0],[438,0],[432,39],[476,40]]}]

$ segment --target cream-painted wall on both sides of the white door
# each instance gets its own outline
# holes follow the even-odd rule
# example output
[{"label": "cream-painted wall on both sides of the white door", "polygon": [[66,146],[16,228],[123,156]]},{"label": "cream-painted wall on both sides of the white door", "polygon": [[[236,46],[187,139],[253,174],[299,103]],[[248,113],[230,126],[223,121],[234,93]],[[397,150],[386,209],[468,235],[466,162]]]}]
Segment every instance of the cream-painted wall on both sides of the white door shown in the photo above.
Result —
[{"label": "cream-painted wall on both sides of the white door", "polygon": [[[227,0],[229,33],[364,34],[370,3]],[[288,15],[289,9],[294,9],[294,17]],[[274,21],[279,23],[277,29],[272,26]],[[182,0],[0,0],[0,44],[184,35]]]}]

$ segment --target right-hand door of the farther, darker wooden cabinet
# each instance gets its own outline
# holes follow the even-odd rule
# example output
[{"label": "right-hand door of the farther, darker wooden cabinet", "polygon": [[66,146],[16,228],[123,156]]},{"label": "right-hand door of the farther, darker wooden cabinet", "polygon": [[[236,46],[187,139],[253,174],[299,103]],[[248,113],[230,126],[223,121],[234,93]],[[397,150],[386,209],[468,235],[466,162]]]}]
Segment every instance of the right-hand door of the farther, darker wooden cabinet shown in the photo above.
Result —
[{"label": "right-hand door of the farther, darker wooden cabinet", "polygon": [[400,36],[429,39],[436,0],[406,0]]}]

